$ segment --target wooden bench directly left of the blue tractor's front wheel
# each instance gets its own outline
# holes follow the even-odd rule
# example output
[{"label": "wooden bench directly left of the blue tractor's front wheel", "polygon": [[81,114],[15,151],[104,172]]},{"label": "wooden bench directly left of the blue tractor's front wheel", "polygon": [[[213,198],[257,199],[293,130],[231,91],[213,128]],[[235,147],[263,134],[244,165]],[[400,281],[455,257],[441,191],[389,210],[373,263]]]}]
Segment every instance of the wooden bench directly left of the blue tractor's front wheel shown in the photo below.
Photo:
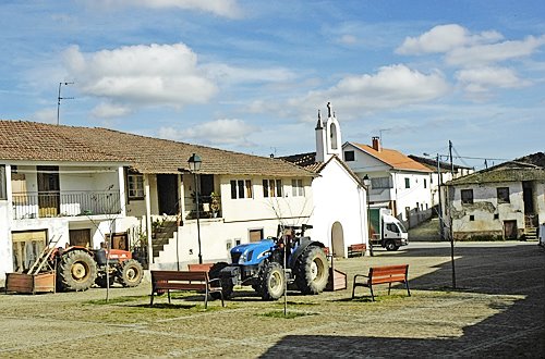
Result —
[{"label": "wooden bench directly left of the blue tractor's front wheel", "polygon": [[152,299],[149,306],[154,305],[154,295],[167,292],[170,304],[170,290],[204,290],[205,309],[208,308],[208,296],[210,293],[219,293],[221,306],[225,307],[223,293],[220,283],[210,286],[207,271],[152,271]]}]

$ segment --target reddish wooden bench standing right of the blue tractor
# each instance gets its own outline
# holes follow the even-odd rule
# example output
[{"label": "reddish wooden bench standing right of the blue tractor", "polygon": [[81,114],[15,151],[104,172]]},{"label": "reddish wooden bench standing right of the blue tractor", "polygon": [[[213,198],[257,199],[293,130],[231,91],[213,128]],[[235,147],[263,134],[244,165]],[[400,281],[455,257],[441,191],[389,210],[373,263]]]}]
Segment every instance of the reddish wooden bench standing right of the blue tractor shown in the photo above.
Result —
[{"label": "reddish wooden bench standing right of the blue tractor", "polygon": [[[365,282],[356,282],[356,278],[363,276],[367,280]],[[399,265],[383,265],[383,267],[372,267],[370,268],[368,275],[356,274],[354,275],[354,284],[352,286],[352,299],[354,299],[355,287],[368,287],[371,289],[371,298],[375,301],[375,295],[373,294],[374,284],[386,284],[388,283],[388,295],[390,295],[392,283],[404,283],[407,293],[409,297],[411,292],[409,290],[409,264]]]}]

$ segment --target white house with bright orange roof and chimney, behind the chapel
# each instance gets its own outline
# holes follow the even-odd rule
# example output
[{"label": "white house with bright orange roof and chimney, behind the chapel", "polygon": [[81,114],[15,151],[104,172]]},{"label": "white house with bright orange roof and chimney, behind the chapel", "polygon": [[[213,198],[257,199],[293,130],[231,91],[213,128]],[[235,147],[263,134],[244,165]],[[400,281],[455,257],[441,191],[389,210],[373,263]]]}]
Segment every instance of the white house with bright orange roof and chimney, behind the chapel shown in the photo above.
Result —
[{"label": "white house with bright orange roof and chimney, behind the chapel", "polygon": [[431,215],[432,170],[397,150],[383,148],[378,137],[373,137],[372,146],[346,143],[342,151],[358,177],[371,180],[371,206],[391,209],[409,226]]}]

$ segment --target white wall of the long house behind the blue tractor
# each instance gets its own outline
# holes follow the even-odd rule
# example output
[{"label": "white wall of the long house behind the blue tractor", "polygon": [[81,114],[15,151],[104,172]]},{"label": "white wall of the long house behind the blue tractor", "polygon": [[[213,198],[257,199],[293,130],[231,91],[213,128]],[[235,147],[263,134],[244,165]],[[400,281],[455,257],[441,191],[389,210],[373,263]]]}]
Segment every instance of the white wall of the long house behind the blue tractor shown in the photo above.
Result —
[{"label": "white wall of the long house behind the blue tractor", "polygon": [[[308,224],[313,211],[313,189],[310,178],[303,180],[304,196],[292,196],[291,178],[282,178],[283,197],[264,198],[263,178],[257,176],[216,177],[219,181],[222,218],[202,219],[201,248],[204,262],[230,261],[229,249],[237,243],[250,242],[250,230],[263,230],[264,237],[277,235],[278,224]],[[216,180],[215,178],[215,180]],[[265,178],[278,178],[267,176]],[[231,180],[251,180],[253,198],[231,199]],[[187,185],[187,184],[185,184]],[[185,187],[190,190],[189,187]],[[308,231],[312,235],[314,231]],[[177,258],[178,248],[178,258]],[[178,239],[170,239],[153,268],[181,269],[187,263],[198,261],[198,240],[196,220],[183,221],[179,227]]]}]

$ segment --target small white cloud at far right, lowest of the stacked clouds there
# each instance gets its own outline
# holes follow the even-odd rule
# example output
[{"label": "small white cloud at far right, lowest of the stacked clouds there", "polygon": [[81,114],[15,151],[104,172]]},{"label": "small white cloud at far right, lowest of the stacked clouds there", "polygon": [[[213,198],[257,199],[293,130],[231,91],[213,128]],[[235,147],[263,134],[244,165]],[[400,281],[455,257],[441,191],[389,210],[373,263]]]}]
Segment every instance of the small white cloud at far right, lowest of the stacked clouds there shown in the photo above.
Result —
[{"label": "small white cloud at far right, lowest of the stacked clouds there", "polygon": [[491,87],[517,88],[530,85],[530,82],[519,78],[513,70],[506,67],[460,70],[456,78],[470,94],[485,94]]}]

